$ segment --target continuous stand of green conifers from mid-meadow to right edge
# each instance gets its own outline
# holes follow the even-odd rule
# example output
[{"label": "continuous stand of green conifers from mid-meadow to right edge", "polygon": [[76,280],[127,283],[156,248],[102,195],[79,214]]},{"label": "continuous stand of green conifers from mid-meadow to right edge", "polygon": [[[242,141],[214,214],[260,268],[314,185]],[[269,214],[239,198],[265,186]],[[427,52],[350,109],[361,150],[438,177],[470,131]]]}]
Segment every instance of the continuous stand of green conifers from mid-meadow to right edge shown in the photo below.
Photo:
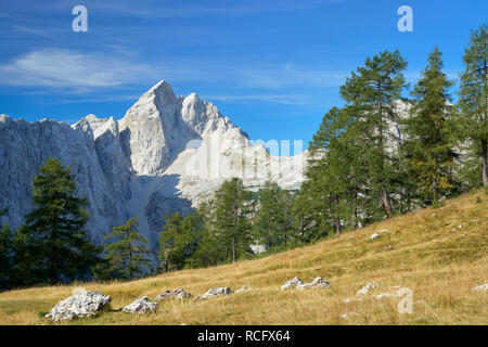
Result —
[{"label": "continuous stand of green conifers from mid-meadow to right edge", "polygon": [[411,99],[398,51],[367,59],[341,87],[345,106],[313,136],[299,192],[268,182],[253,200],[232,179],[194,215],[166,216],[165,271],[248,258],[252,244],[267,253],[307,244],[487,187],[487,39],[486,24],[472,33],[458,105],[438,48]]}]

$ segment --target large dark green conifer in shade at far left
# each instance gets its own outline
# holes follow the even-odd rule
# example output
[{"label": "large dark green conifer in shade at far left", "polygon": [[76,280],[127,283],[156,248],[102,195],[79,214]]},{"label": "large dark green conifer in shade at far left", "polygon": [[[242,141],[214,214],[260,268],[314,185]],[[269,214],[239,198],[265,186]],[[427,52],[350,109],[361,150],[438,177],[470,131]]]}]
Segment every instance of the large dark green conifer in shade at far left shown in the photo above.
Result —
[{"label": "large dark green conifer in shade at far left", "polygon": [[75,176],[54,158],[33,181],[36,207],[15,236],[16,262],[24,284],[87,279],[99,249],[88,241],[86,198],[77,196]]}]

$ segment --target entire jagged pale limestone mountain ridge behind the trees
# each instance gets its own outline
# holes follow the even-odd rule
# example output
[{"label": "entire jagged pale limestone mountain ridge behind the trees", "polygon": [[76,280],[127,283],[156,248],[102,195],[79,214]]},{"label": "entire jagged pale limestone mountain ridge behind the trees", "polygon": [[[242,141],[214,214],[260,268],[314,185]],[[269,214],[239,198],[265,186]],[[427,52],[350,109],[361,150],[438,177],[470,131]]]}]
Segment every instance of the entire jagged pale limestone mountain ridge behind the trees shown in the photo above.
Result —
[{"label": "entire jagged pale limestone mountain ridge behind the trees", "polygon": [[110,228],[140,218],[154,247],[164,214],[188,214],[229,177],[257,189],[266,179],[297,189],[306,154],[274,157],[254,145],[218,108],[195,93],[177,98],[166,81],[144,93],[126,115],[88,115],[73,126],[0,116],[0,206],[17,228],[31,209],[31,180],[46,158],[76,174],[90,203],[88,230],[102,243]]}]

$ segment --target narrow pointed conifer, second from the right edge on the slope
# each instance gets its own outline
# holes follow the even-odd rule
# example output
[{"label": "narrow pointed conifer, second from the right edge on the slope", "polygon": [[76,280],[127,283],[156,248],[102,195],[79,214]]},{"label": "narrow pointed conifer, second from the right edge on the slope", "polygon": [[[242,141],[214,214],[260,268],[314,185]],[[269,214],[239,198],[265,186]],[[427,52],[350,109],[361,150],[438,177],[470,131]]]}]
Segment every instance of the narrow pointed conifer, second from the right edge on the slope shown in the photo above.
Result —
[{"label": "narrow pointed conifer, second from the right edge on the slope", "polygon": [[415,85],[407,119],[408,158],[426,204],[437,202],[454,189],[454,159],[447,123],[452,107],[448,93],[452,82],[442,73],[441,53],[436,47]]}]

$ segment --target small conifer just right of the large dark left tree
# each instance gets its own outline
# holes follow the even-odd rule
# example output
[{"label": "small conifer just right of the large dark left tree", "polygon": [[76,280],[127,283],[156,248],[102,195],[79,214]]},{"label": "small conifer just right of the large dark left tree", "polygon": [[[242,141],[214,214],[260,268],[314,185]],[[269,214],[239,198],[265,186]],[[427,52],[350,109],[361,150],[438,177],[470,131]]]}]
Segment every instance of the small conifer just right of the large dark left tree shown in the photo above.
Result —
[{"label": "small conifer just right of the large dark left tree", "polygon": [[129,219],[124,226],[112,228],[105,240],[115,242],[104,246],[106,255],[103,264],[94,269],[99,280],[132,280],[152,269],[150,252],[145,248],[147,240],[138,232],[139,218]]}]

